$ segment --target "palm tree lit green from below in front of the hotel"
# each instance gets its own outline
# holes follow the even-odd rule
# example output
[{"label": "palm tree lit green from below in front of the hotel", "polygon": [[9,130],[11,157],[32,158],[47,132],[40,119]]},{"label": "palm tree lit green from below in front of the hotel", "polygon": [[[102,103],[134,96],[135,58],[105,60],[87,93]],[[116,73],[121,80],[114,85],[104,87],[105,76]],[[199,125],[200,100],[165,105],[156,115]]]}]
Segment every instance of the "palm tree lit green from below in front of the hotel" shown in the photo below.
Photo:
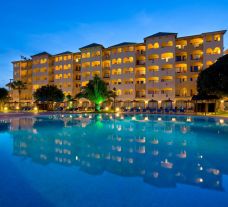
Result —
[{"label": "palm tree lit green from below in front of the hotel", "polygon": [[100,111],[101,103],[111,97],[113,97],[113,91],[108,90],[106,83],[98,76],[90,80],[85,87],[82,87],[81,92],[76,95],[76,98],[85,98],[94,103],[95,111]]}]

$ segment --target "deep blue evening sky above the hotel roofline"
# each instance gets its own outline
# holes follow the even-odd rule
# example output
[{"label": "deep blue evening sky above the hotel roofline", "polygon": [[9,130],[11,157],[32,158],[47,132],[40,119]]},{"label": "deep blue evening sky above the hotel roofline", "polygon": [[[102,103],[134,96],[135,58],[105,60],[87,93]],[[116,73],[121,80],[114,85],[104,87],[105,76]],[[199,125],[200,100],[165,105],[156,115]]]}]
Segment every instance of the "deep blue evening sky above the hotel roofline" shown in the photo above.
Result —
[{"label": "deep blue evening sky above the hotel roofline", "polygon": [[12,78],[11,61],[21,55],[75,52],[92,42],[142,42],[160,31],[183,36],[228,29],[227,11],[227,0],[2,1],[0,87]]}]

